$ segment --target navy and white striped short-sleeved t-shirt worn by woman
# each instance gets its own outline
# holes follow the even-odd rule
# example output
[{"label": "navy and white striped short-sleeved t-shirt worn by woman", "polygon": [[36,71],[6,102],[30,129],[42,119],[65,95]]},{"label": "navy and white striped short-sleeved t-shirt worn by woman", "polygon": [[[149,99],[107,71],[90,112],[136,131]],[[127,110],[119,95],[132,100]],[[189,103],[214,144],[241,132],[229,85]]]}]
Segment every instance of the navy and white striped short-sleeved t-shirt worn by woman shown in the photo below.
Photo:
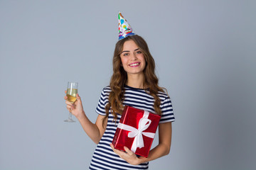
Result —
[{"label": "navy and white striped short-sleeved t-shirt worn by woman", "polygon": [[[100,115],[106,115],[105,106],[108,101],[108,96],[110,94],[110,86],[105,87],[102,90],[102,94],[100,96],[100,101],[96,108],[96,112]],[[174,112],[171,105],[171,99],[167,94],[159,92],[159,98],[161,99],[161,119],[159,123],[166,123],[174,121]],[[130,86],[124,86],[124,106],[132,106],[134,108],[138,108],[141,110],[149,111],[151,113],[154,112],[154,97],[147,94],[144,89],[136,89]],[[115,123],[113,115],[110,113],[107,119],[107,128],[102,135],[102,138],[97,145],[95,152],[92,156],[92,160],[90,162],[89,169],[148,169],[149,162],[132,165],[124,161],[124,159],[120,158],[117,154],[115,154],[110,147],[110,143],[113,140],[114,133],[117,130],[117,124],[121,115],[117,114],[117,123]]]}]

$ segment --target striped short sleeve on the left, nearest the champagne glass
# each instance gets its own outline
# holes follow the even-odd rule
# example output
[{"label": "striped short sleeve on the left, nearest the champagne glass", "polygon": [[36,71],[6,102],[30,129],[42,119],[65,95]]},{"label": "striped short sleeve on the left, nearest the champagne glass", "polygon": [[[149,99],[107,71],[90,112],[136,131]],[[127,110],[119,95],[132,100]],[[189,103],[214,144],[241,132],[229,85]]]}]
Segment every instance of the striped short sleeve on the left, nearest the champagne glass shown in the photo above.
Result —
[{"label": "striped short sleeve on the left, nearest the champagne glass", "polygon": [[107,106],[108,96],[110,94],[110,88],[105,87],[100,94],[100,99],[96,108],[96,113],[99,115],[106,115],[105,107]]}]

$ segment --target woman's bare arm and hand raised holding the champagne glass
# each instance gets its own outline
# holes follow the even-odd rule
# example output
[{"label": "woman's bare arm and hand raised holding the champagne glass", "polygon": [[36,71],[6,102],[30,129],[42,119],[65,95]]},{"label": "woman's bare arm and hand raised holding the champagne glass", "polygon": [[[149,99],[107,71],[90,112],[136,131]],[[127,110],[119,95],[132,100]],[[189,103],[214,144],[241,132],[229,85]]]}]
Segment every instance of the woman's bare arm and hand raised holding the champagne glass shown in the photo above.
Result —
[{"label": "woman's bare arm and hand raised holding the champagne glass", "polygon": [[[64,97],[67,100],[67,97]],[[76,118],[78,118],[80,124],[82,125],[83,130],[87,133],[87,135],[92,139],[96,144],[100,142],[100,139],[105,132],[107,127],[107,119],[102,125],[102,119],[105,118],[104,115],[98,115],[95,123],[92,123],[87,116],[85,115],[85,111],[82,108],[82,101],[80,96],[77,94],[77,101],[75,103],[70,103],[69,101],[65,102],[67,104],[67,108]]]}]

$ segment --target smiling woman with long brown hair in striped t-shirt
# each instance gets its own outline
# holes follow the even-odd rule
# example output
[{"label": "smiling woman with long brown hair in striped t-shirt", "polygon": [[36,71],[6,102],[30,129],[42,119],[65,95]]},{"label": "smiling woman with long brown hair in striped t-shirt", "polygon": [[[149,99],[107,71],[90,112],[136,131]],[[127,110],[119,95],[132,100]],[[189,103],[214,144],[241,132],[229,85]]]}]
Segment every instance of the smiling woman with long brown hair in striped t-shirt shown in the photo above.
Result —
[{"label": "smiling woman with long brown hair in striped t-shirt", "polygon": [[[66,101],[68,110],[97,144],[89,169],[148,169],[149,161],[169,154],[174,113],[169,96],[158,86],[154,69],[145,40],[139,35],[127,36],[116,44],[110,86],[102,90],[96,122],[87,118],[78,94],[75,103]],[[126,147],[126,152],[114,149],[111,144],[126,105],[161,115],[159,145],[151,149],[147,158],[137,157]]]}]

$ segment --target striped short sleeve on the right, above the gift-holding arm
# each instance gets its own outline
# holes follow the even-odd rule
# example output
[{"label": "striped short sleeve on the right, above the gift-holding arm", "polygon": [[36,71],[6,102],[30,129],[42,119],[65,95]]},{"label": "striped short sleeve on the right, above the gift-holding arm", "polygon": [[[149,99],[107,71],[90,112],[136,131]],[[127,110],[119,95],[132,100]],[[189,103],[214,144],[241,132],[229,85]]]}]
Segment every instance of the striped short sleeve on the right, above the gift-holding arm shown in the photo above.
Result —
[{"label": "striped short sleeve on the right, above the gift-holding arm", "polygon": [[174,118],[174,111],[173,111],[173,107],[171,104],[171,98],[169,96],[167,96],[163,103],[161,103],[161,119],[159,121],[159,123],[167,123],[167,122],[174,122],[175,118]]}]

